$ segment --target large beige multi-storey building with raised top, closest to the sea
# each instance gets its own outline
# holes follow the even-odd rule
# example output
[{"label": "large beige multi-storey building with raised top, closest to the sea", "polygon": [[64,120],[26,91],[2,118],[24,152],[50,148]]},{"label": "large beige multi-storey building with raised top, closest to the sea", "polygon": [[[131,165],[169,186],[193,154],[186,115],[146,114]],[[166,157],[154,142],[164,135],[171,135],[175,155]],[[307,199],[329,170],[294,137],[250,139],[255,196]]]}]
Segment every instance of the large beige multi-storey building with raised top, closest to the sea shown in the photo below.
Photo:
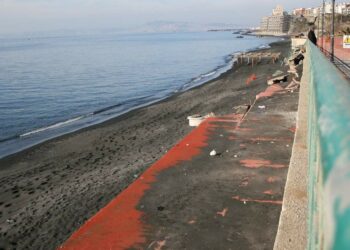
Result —
[{"label": "large beige multi-storey building with raised top, closest to the sea", "polygon": [[261,20],[261,32],[281,35],[289,30],[290,16],[281,5],[272,10],[272,15],[263,17]]}]

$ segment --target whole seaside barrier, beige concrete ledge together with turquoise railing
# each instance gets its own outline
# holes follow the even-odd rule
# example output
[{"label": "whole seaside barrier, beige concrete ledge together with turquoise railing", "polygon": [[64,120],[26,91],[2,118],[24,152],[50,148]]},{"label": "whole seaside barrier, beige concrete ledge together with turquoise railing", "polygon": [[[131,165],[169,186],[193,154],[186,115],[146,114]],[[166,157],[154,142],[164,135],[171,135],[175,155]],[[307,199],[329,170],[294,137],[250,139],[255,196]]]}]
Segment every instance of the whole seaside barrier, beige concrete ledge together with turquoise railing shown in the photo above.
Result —
[{"label": "whole seaside barrier, beige concrete ledge together with turquoise railing", "polygon": [[310,42],[305,58],[274,249],[350,249],[350,83]]}]

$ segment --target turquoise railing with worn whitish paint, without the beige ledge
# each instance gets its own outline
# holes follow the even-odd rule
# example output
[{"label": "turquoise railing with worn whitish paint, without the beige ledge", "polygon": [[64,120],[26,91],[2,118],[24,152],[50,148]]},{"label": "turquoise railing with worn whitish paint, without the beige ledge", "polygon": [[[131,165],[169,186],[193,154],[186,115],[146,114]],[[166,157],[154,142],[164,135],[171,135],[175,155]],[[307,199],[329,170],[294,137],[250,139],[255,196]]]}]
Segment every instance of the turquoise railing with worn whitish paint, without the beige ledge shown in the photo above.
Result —
[{"label": "turquoise railing with worn whitish paint, without the beige ledge", "polygon": [[308,42],[308,249],[350,249],[350,83]]}]

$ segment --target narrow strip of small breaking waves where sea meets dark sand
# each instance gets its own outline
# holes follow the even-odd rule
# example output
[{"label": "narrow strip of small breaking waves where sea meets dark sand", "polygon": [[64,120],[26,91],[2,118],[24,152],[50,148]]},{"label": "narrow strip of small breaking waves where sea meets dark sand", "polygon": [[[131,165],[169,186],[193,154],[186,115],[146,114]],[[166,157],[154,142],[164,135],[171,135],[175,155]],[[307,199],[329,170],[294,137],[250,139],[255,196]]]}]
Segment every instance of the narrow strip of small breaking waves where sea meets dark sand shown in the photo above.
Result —
[{"label": "narrow strip of small breaking waves where sea meets dark sand", "polygon": [[[279,38],[282,39],[284,37],[279,37]],[[283,40],[267,43],[267,44],[261,45],[259,47],[255,47],[255,48],[249,49],[246,52],[263,51],[263,50],[271,48],[271,46],[274,43],[279,43],[279,42],[282,42],[282,41]],[[23,154],[25,154],[26,152],[28,152],[30,150],[34,150],[36,147],[40,146],[41,144],[45,144],[47,142],[52,142],[52,141],[54,141],[56,139],[59,140],[61,137],[63,138],[63,137],[68,136],[68,135],[73,135],[75,133],[79,133],[79,132],[85,131],[86,129],[90,129],[90,128],[93,129],[96,126],[99,126],[99,125],[103,126],[104,123],[108,123],[109,121],[114,120],[114,119],[118,119],[119,117],[123,117],[124,115],[127,115],[129,112],[133,112],[135,110],[146,108],[146,107],[149,107],[149,106],[152,106],[152,105],[157,105],[157,104],[159,104],[159,103],[161,103],[163,101],[167,101],[168,99],[171,99],[172,97],[176,97],[176,96],[181,95],[182,93],[185,93],[185,92],[190,91],[192,89],[196,89],[196,88],[201,87],[203,85],[209,84],[209,83],[211,83],[213,81],[219,80],[223,75],[225,75],[226,73],[228,73],[231,70],[234,70],[233,67],[234,67],[235,62],[236,62],[235,55],[238,55],[238,54],[241,54],[241,53],[246,53],[246,52],[239,51],[239,52],[234,52],[234,53],[231,53],[231,54],[228,54],[228,55],[224,56],[224,58],[230,57],[230,59],[226,62],[226,64],[219,65],[215,69],[209,71],[208,73],[211,73],[213,71],[220,70],[220,69],[223,69],[223,68],[228,68],[226,71],[221,72],[218,76],[216,76],[216,77],[214,77],[212,79],[206,80],[206,81],[201,82],[199,84],[196,84],[194,86],[190,86],[189,88],[184,88],[183,90],[180,90],[178,92],[173,92],[173,93],[171,93],[171,94],[169,94],[167,96],[164,96],[164,97],[162,97],[160,99],[153,100],[153,101],[150,101],[150,102],[147,102],[147,103],[144,103],[144,104],[137,105],[137,106],[135,106],[133,108],[127,109],[125,111],[122,111],[121,113],[115,114],[115,115],[113,115],[111,117],[108,117],[106,119],[96,120],[96,121],[92,122],[91,124],[86,124],[85,123],[85,125],[80,125],[77,128],[73,127],[70,130],[67,129],[67,130],[65,130],[63,132],[56,131],[56,133],[55,133],[55,130],[53,130],[52,131],[52,133],[53,133],[52,135],[47,135],[43,139],[40,139],[40,135],[42,135],[42,134],[40,134],[41,132],[39,132],[39,134],[37,135],[37,136],[39,136],[39,138],[37,138],[36,141],[34,139],[34,142],[32,142],[32,143],[29,142],[28,144],[24,144],[24,146],[19,146],[18,150],[17,149],[10,150],[11,153],[4,153],[3,155],[0,155],[0,162],[2,160],[6,161],[9,158],[23,155]],[[203,73],[201,75],[205,75],[205,74],[208,74],[208,73]],[[188,83],[193,82],[197,78],[198,77],[192,78]],[[188,83],[185,83],[181,88],[186,86],[186,84],[188,84]],[[93,116],[95,116],[95,114],[92,114],[91,118],[93,118]],[[87,119],[87,118],[89,118],[89,114],[85,114],[85,115],[83,114],[83,115],[80,115],[79,117],[84,117],[81,120]],[[75,118],[72,117],[69,120],[74,120],[76,118],[77,117],[75,117]],[[46,127],[37,128],[37,129],[34,129],[32,131],[25,132],[23,135],[30,134],[30,133],[33,133],[36,130],[46,129],[46,128],[49,128],[51,126],[55,126],[56,124],[65,123],[65,122],[66,121],[61,121],[61,122],[58,122],[58,123],[55,123],[55,124],[47,125]],[[76,125],[76,124],[73,123],[73,124],[69,124],[68,126],[74,126],[74,125]],[[59,128],[62,128],[64,130],[65,126],[62,126],[62,127],[59,127]],[[50,130],[50,129],[48,129],[48,130]],[[19,140],[21,140],[21,137],[23,135],[13,135],[13,136],[9,137],[8,139],[5,138],[0,143],[7,143],[7,142],[9,142],[9,143],[11,143],[11,142],[20,143]],[[23,140],[25,140],[25,139],[26,139],[26,136],[23,136]],[[30,138],[28,138],[28,139],[30,139]],[[4,151],[6,152],[6,150],[4,150]]]}]

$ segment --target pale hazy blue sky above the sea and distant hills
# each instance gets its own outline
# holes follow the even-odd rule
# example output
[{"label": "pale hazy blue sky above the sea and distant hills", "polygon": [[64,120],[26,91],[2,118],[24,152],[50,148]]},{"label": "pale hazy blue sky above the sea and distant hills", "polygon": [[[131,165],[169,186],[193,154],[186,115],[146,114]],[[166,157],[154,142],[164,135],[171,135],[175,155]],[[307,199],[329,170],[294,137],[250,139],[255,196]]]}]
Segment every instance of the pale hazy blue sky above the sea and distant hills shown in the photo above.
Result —
[{"label": "pale hazy blue sky above the sea and distant hills", "polygon": [[156,21],[258,26],[277,4],[287,11],[321,0],[0,0],[0,34],[134,30]]}]

